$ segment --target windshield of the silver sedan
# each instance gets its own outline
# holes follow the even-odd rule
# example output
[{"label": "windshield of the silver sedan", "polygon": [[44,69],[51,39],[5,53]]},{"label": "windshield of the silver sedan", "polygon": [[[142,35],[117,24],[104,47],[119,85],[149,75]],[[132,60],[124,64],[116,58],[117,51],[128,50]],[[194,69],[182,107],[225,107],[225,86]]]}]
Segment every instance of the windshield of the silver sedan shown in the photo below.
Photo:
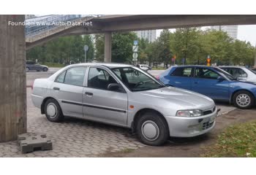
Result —
[{"label": "windshield of the silver sedan", "polygon": [[131,91],[154,90],[165,87],[157,79],[153,79],[137,68],[118,67],[111,70]]}]

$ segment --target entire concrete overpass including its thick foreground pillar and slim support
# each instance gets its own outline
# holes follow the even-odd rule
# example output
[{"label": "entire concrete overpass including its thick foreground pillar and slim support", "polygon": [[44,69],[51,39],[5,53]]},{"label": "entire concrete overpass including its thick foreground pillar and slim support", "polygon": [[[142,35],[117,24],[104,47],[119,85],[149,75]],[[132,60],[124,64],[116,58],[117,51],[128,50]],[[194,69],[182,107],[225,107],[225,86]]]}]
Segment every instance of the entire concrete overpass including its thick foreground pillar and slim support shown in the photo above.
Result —
[{"label": "entire concrete overpass including its thick foreground pillar and slim support", "polygon": [[115,31],[256,24],[256,15],[105,15],[80,19],[93,22],[93,26],[55,28],[26,41],[24,26],[8,25],[8,21],[24,20],[24,15],[0,15],[0,142],[26,133],[26,49],[59,36],[103,33],[105,61],[110,62],[111,33]]}]

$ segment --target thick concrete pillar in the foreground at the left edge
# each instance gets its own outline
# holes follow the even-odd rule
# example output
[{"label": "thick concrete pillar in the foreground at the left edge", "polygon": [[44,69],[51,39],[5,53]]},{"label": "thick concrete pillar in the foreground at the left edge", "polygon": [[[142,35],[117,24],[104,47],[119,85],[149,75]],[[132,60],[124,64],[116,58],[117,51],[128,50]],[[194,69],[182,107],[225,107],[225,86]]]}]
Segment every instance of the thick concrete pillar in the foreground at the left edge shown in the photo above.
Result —
[{"label": "thick concrete pillar in the foreground at the left edge", "polygon": [[26,51],[24,15],[0,15],[0,142],[26,133]]}]

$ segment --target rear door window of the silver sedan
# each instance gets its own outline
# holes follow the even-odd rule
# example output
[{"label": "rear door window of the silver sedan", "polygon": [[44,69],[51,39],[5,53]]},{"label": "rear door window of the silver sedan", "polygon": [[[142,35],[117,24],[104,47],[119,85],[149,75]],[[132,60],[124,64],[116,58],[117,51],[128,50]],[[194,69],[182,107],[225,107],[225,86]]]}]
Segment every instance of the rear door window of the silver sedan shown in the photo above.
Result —
[{"label": "rear door window of the silver sedan", "polygon": [[[85,74],[86,74],[86,67],[70,68],[67,70],[67,73],[65,75],[64,84],[83,86],[83,80],[84,80]],[[59,80],[61,81],[61,78]]]}]

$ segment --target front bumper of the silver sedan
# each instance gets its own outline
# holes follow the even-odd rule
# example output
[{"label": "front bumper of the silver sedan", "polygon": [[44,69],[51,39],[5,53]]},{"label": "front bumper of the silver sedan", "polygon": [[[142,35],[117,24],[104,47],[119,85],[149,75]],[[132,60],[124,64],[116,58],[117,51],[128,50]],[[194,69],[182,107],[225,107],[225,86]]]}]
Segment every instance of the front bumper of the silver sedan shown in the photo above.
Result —
[{"label": "front bumper of the silver sedan", "polygon": [[217,109],[211,114],[200,117],[165,116],[170,136],[192,137],[211,131],[216,124]]}]

